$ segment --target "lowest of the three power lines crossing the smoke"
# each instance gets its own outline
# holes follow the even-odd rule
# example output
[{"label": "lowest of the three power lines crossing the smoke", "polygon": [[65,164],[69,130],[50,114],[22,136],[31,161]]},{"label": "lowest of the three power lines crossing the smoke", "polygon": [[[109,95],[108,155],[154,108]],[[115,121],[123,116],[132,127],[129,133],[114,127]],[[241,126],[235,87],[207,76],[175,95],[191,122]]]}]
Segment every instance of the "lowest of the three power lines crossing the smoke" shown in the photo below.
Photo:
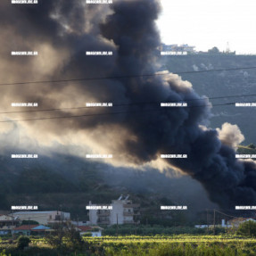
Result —
[{"label": "lowest of the three power lines crossing the smoke", "polygon": [[[185,108],[197,108],[197,107],[211,107],[211,106],[222,106],[222,105],[232,105],[235,103],[219,103],[219,104],[204,104],[204,105],[194,105],[187,106]],[[169,110],[174,110],[176,108],[169,108]],[[20,121],[32,121],[32,120],[57,120],[57,119],[71,119],[71,118],[81,118],[81,117],[92,117],[92,116],[107,116],[107,115],[116,115],[122,113],[144,113],[148,111],[166,111],[167,108],[154,109],[154,110],[144,110],[144,111],[117,111],[117,112],[108,112],[108,113],[94,113],[94,114],[84,114],[84,115],[76,115],[76,116],[57,116],[57,117],[46,117],[46,118],[37,118],[37,119],[24,119],[24,120],[4,120],[0,121],[0,123],[7,122],[20,122]]]}]

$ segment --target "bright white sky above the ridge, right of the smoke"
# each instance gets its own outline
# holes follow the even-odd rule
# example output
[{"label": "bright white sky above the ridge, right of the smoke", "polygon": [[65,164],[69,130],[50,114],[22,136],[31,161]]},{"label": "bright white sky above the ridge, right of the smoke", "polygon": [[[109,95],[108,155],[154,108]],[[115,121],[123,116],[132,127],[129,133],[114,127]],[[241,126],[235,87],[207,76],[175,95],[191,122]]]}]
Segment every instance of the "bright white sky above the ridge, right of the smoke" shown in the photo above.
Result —
[{"label": "bright white sky above the ridge, right of the smoke", "polygon": [[188,44],[197,51],[213,46],[256,54],[255,0],[161,0],[158,27],[165,44]]}]

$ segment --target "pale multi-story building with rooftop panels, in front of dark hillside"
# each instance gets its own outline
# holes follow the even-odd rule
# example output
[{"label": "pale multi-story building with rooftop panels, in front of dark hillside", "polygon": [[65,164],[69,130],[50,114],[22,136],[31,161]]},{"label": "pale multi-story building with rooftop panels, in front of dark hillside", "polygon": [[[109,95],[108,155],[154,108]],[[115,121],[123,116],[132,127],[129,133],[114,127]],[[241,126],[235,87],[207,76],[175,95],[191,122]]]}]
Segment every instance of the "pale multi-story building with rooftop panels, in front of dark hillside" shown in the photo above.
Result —
[{"label": "pale multi-story building with rooftop panels, in front of dark hillside", "polygon": [[[95,204],[90,202],[89,205],[93,206]],[[121,195],[118,200],[112,200],[108,207],[111,210],[89,210],[90,224],[114,225],[139,223],[140,205],[128,200],[128,196]]]}]

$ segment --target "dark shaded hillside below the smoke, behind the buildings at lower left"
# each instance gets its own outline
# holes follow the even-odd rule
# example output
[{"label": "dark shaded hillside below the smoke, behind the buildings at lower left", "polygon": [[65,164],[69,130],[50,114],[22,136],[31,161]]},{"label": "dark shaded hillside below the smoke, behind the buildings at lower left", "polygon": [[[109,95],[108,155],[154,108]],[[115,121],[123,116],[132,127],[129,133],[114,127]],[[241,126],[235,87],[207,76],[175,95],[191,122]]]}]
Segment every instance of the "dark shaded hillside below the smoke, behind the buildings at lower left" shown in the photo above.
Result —
[{"label": "dark shaded hillside below the smoke, behind the buildings at lower left", "polygon": [[131,194],[147,212],[156,211],[161,200],[193,205],[198,211],[212,205],[192,178],[169,178],[157,169],[114,168],[60,154],[34,163],[22,160],[22,164],[2,157],[0,166],[0,210],[10,210],[12,205],[38,205],[39,211],[62,209],[87,219],[89,201],[111,203],[120,194]]}]

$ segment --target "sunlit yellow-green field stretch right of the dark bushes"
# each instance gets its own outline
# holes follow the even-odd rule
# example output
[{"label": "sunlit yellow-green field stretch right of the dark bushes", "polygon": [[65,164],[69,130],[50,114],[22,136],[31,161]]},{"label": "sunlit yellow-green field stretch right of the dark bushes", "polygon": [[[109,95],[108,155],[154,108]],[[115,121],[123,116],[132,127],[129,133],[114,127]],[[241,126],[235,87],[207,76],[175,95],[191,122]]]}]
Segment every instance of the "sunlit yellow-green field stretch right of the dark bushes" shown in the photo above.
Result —
[{"label": "sunlit yellow-green field stretch right of the dark bushes", "polygon": [[105,236],[86,241],[94,255],[256,255],[256,239],[240,236]]}]

